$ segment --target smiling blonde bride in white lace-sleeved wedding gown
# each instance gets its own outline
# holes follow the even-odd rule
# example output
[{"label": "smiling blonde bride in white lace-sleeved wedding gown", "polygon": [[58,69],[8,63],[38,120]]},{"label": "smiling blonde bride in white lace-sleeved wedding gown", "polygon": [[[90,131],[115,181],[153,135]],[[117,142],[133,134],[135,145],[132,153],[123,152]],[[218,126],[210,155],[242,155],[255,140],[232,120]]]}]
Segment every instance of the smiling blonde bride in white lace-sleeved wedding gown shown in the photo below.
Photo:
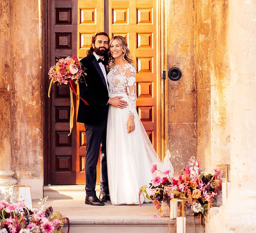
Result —
[{"label": "smiling blonde bride in white lace-sleeved wedding gown", "polygon": [[[123,97],[128,108],[109,107],[107,167],[113,205],[139,204],[139,189],[152,180],[152,163],[161,164],[136,112],[136,69],[122,36],[109,42],[110,97]],[[141,195],[141,203],[148,202]]]}]

